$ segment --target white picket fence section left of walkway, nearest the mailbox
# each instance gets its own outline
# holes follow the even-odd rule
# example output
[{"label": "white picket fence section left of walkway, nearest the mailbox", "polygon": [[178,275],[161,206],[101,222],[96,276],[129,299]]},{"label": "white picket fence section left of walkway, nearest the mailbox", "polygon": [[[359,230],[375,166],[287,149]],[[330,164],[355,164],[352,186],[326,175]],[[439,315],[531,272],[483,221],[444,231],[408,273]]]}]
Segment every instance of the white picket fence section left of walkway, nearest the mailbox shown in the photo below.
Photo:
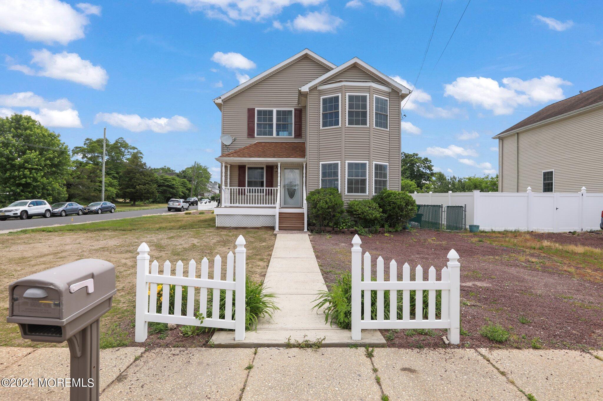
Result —
[{"label": "white picket fence section left of walkway, nearest the mailbox", "polygon": [[[171,274],[169,260],[163,264],[163,275],[159,274],[159,263],[154,260],[149,272],[149,247],[141,243],[136,257],[136,329],[134,341],[142,343],[147,340],[148,322],[175,323],[235,330],[235,340],[245,339],[245,260],[247,249],[245,239],[239,235],[235,242],[233,255],[229,252],[226,259],[226,280],[221,280],[222,259],[218,255],[213,260],[213,278],[207,278],[209,261],[206,257],[201,261],[201,277],[197,278],[197,263],[191,259],[188,276],[183,276],[183,263],[176,263],[176,275]],[[233,277],[234,274],[234,277]],[[157,311],[157,285],[162,284],[163,291],[161,310]],[[174,313],[169,314],[169,285],[175,286]],[[182,291],[186,287],[186,314],[182,314]],[[196,317],[195,288],[199,289],[198,311],[205,317],[203,323]],[[207,289],[213,290],[212,313],[207,317]],[[220,290],[226,290],[225,313],[219,317]],[[233,291],[235,292],[235,319],[232,318]]]}]

